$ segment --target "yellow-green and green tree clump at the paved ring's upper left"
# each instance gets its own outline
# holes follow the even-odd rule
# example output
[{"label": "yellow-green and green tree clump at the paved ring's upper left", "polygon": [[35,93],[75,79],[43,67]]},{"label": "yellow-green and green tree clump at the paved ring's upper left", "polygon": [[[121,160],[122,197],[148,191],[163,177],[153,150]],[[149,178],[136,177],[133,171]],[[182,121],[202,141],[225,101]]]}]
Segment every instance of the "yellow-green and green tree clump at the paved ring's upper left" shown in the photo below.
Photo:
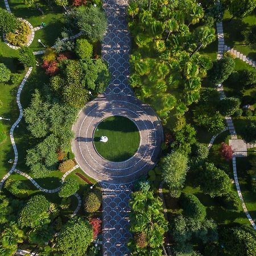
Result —
[{"label": "yellow-green and green tree clump at the paved ring's upper left", "polygon": [[51,86],[65,103],[82,107],[89,100],[89,90],[103,92],[108,80],[108,67],[100,59],[66,60],[61,63],[60,75],[52,77]]}]

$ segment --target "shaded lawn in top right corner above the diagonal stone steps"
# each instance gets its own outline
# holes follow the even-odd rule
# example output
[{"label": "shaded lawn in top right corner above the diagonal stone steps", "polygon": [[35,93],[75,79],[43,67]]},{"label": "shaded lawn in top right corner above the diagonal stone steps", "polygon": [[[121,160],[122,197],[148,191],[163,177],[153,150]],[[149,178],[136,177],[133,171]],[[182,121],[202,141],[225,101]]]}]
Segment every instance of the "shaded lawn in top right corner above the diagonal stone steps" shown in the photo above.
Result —
[{"label": "shaded lawn in top right corner above the diagonal stone steps", "polygon": [[256,60],[256,47],[243,45],[245,42],[242,36],[242,31],[256,24],[256,11],[243,19],[230,20],[231,17],[229,11],[226,11],[223,20],[225,44]]}]

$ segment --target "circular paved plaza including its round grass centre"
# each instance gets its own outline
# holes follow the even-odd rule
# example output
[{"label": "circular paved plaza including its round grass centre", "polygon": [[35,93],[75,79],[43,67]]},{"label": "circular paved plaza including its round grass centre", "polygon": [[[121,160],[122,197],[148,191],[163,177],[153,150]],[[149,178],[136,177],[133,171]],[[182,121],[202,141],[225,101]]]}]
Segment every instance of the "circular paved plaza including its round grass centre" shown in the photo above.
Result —
[{"label": "circular paved plaza including its round grass centre", "polygon": [[[111,145],[112,151],[105,148],[102,153],[96,145],[101,136],[106,136],[107,130],[109,138],[106,144],[112,143],[112,139],[117,135],[115,133],[118,130],[117,123],[121,121],[120,118],[123,122],[125,119],[128,119],[127,123],[131,122],[130,128],[126,127],[127,123],[125,127],[119,123],[119,126],[122,126],[120,135],[123,135],[123,129],[128,128],[131,129],[129,133],[137,133],[137,139],[134,139],[136,136],[133,138],[135,145],[132,147],[133,150],[130,150],[130,154],[125,155],[121,162],[120,156],[123,156],[127,146],[130,148],[131,145],[125,144],[122,136],[119,137],[121,138],[119,141]],[[112,124],[106,123],[109,120],[112,121]],[[110,125],[110,128],[106,127],[106,124]],[[107,129],[101,129],[101,125]],[[135,125],[138,131],[135,131],[135,127],[132,125]],[[104,133],[98,133],[100,131],[104,131]],[[162,125],[154,110],[143,104],[138,98],[122,94],[100,96],[89,102],[86,108],[79,113],[77,122],[73,125],[73,132],[75,139],[72,141],[72,150],[81,169],[93,179],[112,184],[129,183],[146,175],[158,161],[163,141]],[[126,138],[126,142],[131,138],[130,135]],[[101,143],[100,146],[106,146],[104,142],[98,141],[97,143]],[[120,143],[118,147],[120,146],[122,151],[117,154],[114,150],[118,143]],[[108,153],[108,157],[104,155],[106,153]],[[118,161],[113,161],[114,157],[117,159],[117,156]]]}]

